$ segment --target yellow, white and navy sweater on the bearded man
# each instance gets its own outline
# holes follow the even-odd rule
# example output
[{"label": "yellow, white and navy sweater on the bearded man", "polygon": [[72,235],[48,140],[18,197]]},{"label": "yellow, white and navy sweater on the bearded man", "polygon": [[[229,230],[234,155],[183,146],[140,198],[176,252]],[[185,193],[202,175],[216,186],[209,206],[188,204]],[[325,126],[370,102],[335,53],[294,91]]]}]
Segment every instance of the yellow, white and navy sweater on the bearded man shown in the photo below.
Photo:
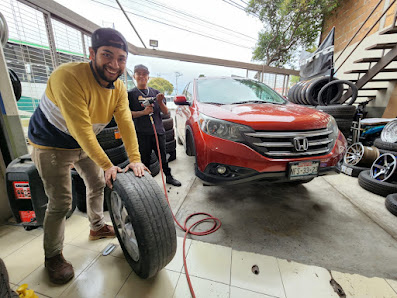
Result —
[{"label": "yellow, white and navy sweater on the bearded man", "polygon": [[50,76],[45,94],[29,123],[29,140],[39,148],[79,149],[103,170],[112,166],[96,134],[114,115],[130,162],[140,162],[127,90],[121,80],[102,87],[89,63],[67,63]]}]

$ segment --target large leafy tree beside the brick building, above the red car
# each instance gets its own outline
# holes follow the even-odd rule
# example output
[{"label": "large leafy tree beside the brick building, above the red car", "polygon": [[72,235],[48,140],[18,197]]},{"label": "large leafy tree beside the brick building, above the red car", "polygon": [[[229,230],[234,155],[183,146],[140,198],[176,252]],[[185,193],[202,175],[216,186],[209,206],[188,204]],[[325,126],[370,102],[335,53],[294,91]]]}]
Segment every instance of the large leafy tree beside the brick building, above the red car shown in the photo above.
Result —
[{"label": "large leafy tree beside the brick building, above the red car", "polygon": [[253,60],[269,66],[291,62],[298,48],[313,47],[324,16],[340,0],[250,0],[246,11],[259,16],[264,28],[259,33]]}]

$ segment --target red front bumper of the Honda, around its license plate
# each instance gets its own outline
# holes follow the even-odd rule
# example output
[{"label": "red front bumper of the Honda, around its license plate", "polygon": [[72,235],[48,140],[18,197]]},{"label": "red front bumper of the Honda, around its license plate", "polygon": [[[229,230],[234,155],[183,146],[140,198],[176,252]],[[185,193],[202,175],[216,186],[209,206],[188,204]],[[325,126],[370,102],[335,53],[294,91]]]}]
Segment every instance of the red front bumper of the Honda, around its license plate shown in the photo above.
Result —
[{"label": "red front bumper of the Honda, around its license plate", "polygon": [[[288,177],[289,163],[297,161],[320,162],[318,174],[303,176],[300,180],[313,177],[338,174],[341,169],[341,160],[346,151],[346,139],[340,133],[334,148],[326,155],[293,159],[271,159],[265,157],[252,148],[239,143],[225,141],[219,138],[202,134],[196,155],[195,174],[207,184],[236,184],[254,180],[268,182],[292,181]],[[197,144],[197,140],[196,140]],[[226,175],[219,174],[217,167],[226,167]],[[294,179],[293,181],[297,181]]]}]

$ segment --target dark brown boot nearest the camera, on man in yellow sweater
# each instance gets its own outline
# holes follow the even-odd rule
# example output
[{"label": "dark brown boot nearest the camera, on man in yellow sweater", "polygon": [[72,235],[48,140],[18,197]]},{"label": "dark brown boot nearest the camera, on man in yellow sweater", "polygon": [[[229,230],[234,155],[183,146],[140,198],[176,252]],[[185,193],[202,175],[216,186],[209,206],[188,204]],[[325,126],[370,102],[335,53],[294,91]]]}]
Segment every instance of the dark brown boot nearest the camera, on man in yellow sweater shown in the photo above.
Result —
[{"label": "dark brown boot nearest the camera, on man in yellow sweater", "polygon": [[66,284],[74,276],[72,264],[65,260],[62,253],[55,257],[45,258],[44,265],[47,268],[50,281],[54,284]]}]

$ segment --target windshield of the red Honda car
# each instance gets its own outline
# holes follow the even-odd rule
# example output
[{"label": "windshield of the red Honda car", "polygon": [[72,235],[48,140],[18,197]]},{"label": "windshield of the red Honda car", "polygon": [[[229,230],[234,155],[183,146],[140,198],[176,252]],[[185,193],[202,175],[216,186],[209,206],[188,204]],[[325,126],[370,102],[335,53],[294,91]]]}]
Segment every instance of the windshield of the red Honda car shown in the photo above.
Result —
[{"label": "windshield of the red Honda car", "polygon": [[197,81],[198,100],[203,103],[243,104],[277,103],[286,101],[263,83],[240,78],[200,79]]}]

